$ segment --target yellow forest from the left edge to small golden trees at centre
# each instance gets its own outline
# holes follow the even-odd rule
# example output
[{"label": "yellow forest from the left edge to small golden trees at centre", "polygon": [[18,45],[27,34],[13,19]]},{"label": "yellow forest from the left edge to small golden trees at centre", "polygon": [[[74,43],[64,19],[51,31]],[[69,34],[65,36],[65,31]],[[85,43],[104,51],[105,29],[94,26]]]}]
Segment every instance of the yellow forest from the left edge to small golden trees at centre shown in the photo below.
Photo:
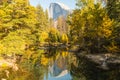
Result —
[{"label": "yellow forest from the left edge to small golden trees at centre", "polygon": [[48,11],[40,5],[33,7],[28,0],[3,0],[0,7],[1,54],[25,54],[43,44],[68,43],[67,34],[54,28]]}]

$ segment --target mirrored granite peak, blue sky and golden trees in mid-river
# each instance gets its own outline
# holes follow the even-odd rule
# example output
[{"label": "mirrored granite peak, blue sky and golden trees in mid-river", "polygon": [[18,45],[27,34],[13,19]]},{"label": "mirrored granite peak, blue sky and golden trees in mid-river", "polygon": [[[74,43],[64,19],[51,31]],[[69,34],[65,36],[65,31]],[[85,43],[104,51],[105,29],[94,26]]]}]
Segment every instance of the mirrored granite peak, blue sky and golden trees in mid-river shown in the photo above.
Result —
[{"label": "mirrored granite peak, blue sky and golden trees in mid-river", "polygon": [[69,60],[71,55],[67,52],[67,49],[54,49],[52,51],[49,49],[44,56],[49,59],[47,60],[49,71],[48,75],[44,76],[44,80],[72,80],[69,72]]}]

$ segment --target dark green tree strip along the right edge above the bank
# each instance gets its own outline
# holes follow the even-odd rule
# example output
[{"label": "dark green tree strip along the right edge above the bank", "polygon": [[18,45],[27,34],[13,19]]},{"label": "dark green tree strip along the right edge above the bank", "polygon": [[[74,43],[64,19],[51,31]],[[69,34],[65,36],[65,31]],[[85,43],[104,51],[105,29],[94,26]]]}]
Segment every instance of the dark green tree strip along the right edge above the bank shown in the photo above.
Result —
[{"label": "dark green tree strip along the right edge above the bank", "polygon": [[112,53],[120,53],[120,1],[108,0],[106,5],[107,14],[114,20],[113,32],[111,35],[111,46],[107,49]]}]

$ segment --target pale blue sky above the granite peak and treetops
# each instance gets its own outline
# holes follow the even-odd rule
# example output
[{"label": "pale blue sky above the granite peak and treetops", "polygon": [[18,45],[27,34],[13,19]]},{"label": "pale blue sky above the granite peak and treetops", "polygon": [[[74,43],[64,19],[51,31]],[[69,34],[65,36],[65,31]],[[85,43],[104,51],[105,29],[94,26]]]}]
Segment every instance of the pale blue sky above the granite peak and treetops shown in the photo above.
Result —
[{"label": "pale blue sky above the granite peak and treetops", "polygon": [[37,4],[40,4],[43,9],[48,9],[50,3],[53,2],[61,2],[65,5],[67,5],[70,9],[74,9],[76,0],[30,0],[30,4],[33,6],[36,6]]}]

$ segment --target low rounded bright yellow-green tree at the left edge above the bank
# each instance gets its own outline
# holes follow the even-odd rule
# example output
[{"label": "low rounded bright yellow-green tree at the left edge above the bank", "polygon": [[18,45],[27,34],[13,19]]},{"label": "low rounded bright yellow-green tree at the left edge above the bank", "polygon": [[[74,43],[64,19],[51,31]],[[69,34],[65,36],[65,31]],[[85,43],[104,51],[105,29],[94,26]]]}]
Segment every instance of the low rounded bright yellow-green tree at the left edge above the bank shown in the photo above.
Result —
[{"label": "low rounded bright yellow-green tree at the left edge above the bank", "polygon": [[10,33],[7,37],[0,41],[1,54],[23,54],[25,50],[25,40],[17,36],[16,33]]}]

